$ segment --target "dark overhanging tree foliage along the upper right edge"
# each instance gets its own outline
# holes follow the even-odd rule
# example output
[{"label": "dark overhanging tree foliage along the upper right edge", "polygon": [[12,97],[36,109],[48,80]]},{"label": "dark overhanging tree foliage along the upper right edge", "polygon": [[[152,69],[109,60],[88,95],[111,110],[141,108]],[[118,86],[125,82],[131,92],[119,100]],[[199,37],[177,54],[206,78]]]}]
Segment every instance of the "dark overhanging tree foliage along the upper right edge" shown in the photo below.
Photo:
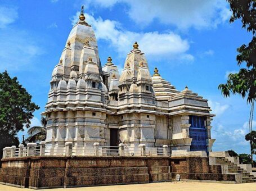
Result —
[{"label": "dark overhanging tree foliage along the upper right edge", "polygon": [[240,19],[242,28],[252,33],[249,44],[242,44],[237,48],[237,65],[246,63],[246,68],[240,69],[235,74],[228,75],[227,83],[220,84],[222,94],[229,97],[230,93],[240,94],[242,98],[247,97],[249,103],[256,98],[256,1],[255,0],[227,0],[230,3],[232,16],[230,22]]}]

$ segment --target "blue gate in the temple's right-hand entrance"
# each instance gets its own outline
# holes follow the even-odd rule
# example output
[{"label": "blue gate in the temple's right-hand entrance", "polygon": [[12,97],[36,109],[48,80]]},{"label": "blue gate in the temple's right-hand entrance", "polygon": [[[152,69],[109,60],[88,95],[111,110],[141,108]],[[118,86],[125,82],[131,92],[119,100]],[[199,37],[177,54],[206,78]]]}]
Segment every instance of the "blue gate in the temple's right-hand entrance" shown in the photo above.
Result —
[{"label": "blue gate in the temple's right-hand entrance", "polygon": [[205,151],[208,153],[206,146],[207,130],[204,121],[204,117],[190,116],[190,138],[192,138],[190,151]]}]

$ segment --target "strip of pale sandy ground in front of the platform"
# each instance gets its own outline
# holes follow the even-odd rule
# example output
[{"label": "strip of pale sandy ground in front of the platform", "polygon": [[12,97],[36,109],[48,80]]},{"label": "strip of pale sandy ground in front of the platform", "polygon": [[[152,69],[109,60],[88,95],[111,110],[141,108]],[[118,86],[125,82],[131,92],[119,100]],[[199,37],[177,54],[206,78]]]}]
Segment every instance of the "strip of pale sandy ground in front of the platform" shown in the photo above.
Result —
[{"label": "strip of pale sandy ground in front of the platform", "polygon": [[[0,184],[1,191],[27,191],[33,189],[22,189],[9,187],[7,185]],[[168,183],[150,183],[150,184],[129,184],[129,185],[113,185],[113,186],[103,186],[103,187],[82,187],[82,188],[56,188],[56,189],[43,189],[47,191],[116,191],[116,190],[139,190],[139,191],[148,191],[148,190],[191,190],[191,191],[200,191],[200,190],[256,190],[256,183],[246,183],[246,184],[219,184],[219,183],[198,183],[190,181],[180,181],[180,182],[168,182]]]}]

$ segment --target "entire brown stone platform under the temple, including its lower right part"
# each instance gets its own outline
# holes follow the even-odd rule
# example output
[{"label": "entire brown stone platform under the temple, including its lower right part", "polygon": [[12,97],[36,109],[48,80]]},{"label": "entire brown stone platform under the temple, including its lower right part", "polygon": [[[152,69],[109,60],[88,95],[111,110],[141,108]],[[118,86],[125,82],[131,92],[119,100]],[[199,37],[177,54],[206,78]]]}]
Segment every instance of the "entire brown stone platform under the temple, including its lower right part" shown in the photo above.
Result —
[{"label": "entire brown stone platform under the temple, including its lower right part", "polygon": [[21,188],[69,188],[181,180],[240,183],[237,174],[222,174],[209,157],[36,156],[5,158],[0,183]]}]

